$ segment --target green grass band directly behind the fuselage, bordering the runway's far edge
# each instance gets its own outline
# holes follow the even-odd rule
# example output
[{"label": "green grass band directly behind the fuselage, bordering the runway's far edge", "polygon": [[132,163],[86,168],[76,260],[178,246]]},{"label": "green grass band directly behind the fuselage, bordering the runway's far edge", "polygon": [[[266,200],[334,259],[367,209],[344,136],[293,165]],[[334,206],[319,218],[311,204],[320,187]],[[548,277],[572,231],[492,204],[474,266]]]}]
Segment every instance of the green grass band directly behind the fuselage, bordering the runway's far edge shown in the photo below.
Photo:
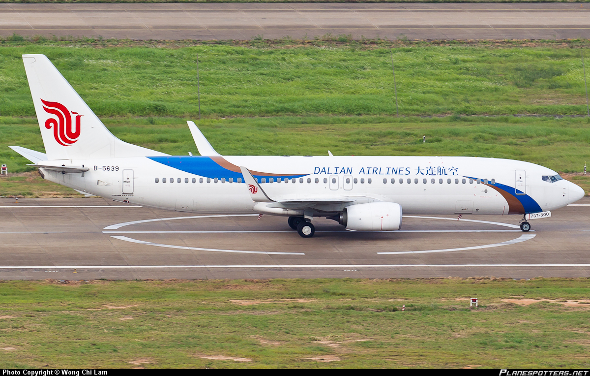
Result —
[{"label": "green grass band directly behind the fuselage, bordering the runway's far edge", "polygon": [[[184,119],[106,118],[120,139],[172,155],[197,154]],[[450,155],[518,159],[573,173],[590,162],[590,120],[584,117],[392,117],[306,116],[204,119],[199,127],[224,155]],[[9,172],[34,171],[8,148],[43,151],[35,119],[0,117],[0,160]],[[422,136],[427,142],[422,143]],[[590,175],[571,176],[590,192]],[[12,178],[15,179],[15,178]],[[24,178],[19,178],[24,179]],[[44,182],[0,178],[0,195],[70,195],[71,189]],[[24,194],[31,192],[31,194]],[[59,192],[59,193],[44,193]]]}]

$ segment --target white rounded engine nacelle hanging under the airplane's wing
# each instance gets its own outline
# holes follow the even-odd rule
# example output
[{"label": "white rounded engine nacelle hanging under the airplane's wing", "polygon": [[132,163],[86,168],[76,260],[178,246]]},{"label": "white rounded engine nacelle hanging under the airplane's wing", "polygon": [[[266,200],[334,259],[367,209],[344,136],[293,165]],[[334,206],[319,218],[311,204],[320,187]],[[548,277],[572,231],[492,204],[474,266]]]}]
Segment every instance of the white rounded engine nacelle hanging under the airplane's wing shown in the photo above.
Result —
[{"label": "white rounded engine nacelle hanging under the airplane's wing", "polygon": [[341,224],[356,231],[395,231],[402,227],[402,207],[395,202],[369,202],[345,208]]}]

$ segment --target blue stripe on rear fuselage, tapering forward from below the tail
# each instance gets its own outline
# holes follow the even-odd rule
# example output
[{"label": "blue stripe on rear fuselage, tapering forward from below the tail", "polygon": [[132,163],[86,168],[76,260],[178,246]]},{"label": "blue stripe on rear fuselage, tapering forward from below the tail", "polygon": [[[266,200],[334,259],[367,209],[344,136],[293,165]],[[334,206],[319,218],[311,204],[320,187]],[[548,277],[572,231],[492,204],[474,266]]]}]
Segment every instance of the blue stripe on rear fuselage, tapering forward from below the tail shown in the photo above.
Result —
[{"label": "blue stripe on rear fuselage, tapering forward from below the tail", "polygon": [[[165,166],[178,169],[180,171],[188,172],[189,174],[204,176],[205,178],[242,178],[244,176],[241,172],[234,172],[218,165],[213,159],[208,156],[149,156],[152,161],[161,163]],[[254,175],[255,178],[300,178],[306,175]]]}]

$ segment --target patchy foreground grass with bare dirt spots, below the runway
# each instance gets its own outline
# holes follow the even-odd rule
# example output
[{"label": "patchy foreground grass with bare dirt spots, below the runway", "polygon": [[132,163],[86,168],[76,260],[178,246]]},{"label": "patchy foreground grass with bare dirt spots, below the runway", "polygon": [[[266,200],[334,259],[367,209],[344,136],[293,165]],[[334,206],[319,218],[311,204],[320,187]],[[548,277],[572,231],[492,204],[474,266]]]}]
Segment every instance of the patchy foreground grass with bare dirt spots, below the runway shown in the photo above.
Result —
[{"label": "patchy foreground grass with bare dirt spots, below the runway", "polygon": [[[588,368],[588,305],[557,302],[589,299],[589,286],[485,278],[10,281],[0,283],[0,367]],[[502,301],[520,297],[550,300]],[[341,360],[306,359],[313,357]]]}]

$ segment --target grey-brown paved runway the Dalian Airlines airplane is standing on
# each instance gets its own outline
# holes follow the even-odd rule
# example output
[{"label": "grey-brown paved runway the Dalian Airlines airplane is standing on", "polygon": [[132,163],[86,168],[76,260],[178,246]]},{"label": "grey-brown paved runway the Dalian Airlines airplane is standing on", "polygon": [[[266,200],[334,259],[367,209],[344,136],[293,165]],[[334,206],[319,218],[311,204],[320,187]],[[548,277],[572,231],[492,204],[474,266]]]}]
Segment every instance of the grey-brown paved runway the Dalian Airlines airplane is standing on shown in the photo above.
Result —
[{"label": "grey-brown paved runway the Dalian Airlines airplane is standing on", "polygon": [[[102,198],[0,199],[0,279],[590,277],[590,198],[518,228],[517,216],[407,216],[358,233],[326,219],[194,214]],[[73,273],[76,269],[77,273]]]}]

